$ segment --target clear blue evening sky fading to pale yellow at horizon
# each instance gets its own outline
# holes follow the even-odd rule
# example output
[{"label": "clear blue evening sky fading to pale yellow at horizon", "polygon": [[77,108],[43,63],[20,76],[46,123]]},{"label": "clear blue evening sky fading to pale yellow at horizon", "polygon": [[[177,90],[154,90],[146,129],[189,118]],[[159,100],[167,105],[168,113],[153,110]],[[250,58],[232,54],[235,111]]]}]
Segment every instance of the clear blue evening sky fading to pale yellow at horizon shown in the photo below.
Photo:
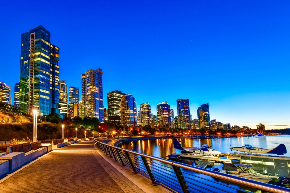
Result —
[{"label": "clear blue evening sky fading to pale yellow at horizon", "polygon": [[[1,1],[0,81],[19,81],[21,34],[42,25],[60,48],[60,78],[103,69],[107,93],[137,107],[188,98],[191,114],[256,128],[290,127],[290,1]],[[12,96],[13,104],[13,96]]]}]

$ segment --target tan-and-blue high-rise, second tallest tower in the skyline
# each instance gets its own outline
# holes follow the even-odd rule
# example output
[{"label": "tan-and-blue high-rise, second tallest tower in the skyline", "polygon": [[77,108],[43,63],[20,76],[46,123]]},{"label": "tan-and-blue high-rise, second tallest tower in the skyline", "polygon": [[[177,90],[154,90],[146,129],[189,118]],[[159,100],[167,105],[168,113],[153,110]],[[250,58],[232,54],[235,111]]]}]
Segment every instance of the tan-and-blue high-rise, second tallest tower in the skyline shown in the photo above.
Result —
[{"label": "tan-and-blue high-rise, second tallest tower in the skyline", "polygon": [[89,69],[81,74],[81,101],[84,105],[84,116],[105,121],[103,105],[103,72]]}]

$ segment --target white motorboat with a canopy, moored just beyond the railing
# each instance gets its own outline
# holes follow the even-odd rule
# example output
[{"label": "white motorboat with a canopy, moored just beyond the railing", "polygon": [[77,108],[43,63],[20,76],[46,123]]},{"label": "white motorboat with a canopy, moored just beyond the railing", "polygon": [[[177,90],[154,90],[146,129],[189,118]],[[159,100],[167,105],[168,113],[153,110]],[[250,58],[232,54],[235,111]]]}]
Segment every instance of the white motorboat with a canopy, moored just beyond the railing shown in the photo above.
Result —
[{"label": "white motorboat with a canopy, moored just beyond the railing", "polygon": [[[220,170],[221,173],[225,173],[225,174],[229,174],[232,176],[238,176],[238,177],[242,177],[242,178],[247,178],[250,180],[256,180],[259,182],[264,182],[264,183],[268,183],[270,182],[273,178],[277,178],[276,174],[269,174],[269,175],[264,175],[264,174],[260,174],[258,172],[255,172],[252,169],[252,164],[234,164],[236,166],[237,171],[236,172],[231,172],[228,170]],[[219,169],[215,168],[213,171],[218,172]]]}]

